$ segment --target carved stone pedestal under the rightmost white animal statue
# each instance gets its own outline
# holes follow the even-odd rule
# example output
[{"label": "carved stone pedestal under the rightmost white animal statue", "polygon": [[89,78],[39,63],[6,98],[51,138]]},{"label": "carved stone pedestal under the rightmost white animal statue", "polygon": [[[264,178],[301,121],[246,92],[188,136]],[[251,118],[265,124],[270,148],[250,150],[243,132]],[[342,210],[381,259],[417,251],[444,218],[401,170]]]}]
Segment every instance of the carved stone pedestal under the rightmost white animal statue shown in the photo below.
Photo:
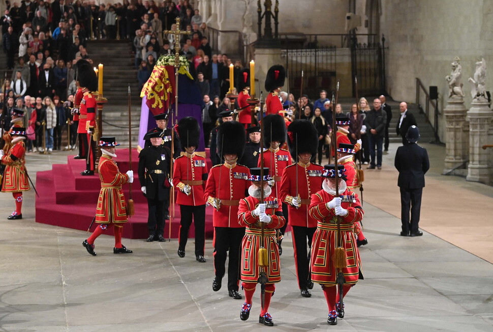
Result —
[{"label": "carved stone pedestal under the rightmost white animal statue", "polygon": [[472,102],[467,112],[469,117],[469,166],[467,181],[488,183],[491,167],[488,165],[489,151],[481,147],[488,144],[488,129],[493,112],[488,108],[487,101]]}]

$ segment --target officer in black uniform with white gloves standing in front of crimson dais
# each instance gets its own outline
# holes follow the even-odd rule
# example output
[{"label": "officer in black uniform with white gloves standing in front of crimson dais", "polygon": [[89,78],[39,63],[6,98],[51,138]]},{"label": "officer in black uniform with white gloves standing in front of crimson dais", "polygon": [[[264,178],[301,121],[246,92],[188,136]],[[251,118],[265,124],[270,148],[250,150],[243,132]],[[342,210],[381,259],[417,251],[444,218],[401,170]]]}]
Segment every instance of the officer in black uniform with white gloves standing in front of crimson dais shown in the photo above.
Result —
[{"label": "officer in black uniform with white gloves standing in front of crimson dais", "polygon": [[164,242],[165,207],[169,206],[169,170],[171,167],[171,150],[162,145],[163,131],[151,130],[144,136],[150,146],[139,154],[139,181],[141,190],[147,198],[149,215],[147,242]]}]

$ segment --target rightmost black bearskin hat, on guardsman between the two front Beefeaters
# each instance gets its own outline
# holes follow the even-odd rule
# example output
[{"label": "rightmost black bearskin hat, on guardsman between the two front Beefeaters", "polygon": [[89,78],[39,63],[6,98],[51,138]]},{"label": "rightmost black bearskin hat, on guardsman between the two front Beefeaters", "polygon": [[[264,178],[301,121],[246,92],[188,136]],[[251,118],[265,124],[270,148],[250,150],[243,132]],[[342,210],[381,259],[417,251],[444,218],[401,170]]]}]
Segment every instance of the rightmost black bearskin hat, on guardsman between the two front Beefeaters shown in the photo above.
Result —
[{"label": "rightmost black bearskin hat, on guardsman between the two front Beefeaters", "polygon": [[288,126],[288,148],[291,157],[298,160],[300,153],[317,154],[318,133],[309,120],[294,120]]}]

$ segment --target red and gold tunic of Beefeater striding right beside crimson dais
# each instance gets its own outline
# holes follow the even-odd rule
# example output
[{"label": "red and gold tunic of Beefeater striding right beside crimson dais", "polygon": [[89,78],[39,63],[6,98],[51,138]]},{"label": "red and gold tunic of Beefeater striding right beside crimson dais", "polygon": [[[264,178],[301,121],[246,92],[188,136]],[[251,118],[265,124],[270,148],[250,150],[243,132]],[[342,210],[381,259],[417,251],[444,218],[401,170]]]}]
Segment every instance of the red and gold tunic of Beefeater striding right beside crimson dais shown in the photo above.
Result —
[{"label": "red and gold tunic of Beefeater striding right beside crimson dais", "polygon": [[116,162],[103,154],[98,164],[101,190],[96,207],[96,223],[126,223],[127,202],[121,185],[127,183],[129,176],[120,173]]}]

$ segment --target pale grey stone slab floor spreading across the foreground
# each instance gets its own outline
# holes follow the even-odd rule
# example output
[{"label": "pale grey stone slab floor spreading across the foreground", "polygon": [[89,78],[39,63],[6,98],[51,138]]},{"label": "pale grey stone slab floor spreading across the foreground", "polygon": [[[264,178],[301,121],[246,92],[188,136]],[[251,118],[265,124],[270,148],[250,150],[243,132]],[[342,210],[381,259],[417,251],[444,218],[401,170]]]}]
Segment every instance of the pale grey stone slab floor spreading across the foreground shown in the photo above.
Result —
[{"label": "pale grey stone slab floor spreading across the foreground", "polygon": [[[440,176],[439,156],[444,148],[425,146],[432,159],[427,178],[434,184],[425,188],[429,200],[446,199],[434,192],[437,181],[457,190],[473,190],[489,203],[483,209],[493,206],[491,187]],[[422,225],[422,237],[398,236],[398,206],[389,204],[393,201],[382,198],[377,188],[384,187],[398,202],[392,167],[396,148],[392,144],[384,155],[380,175],[379,171],[365,173],[363,225],[369,243],[360,250],[365,280],[349,292],[346,318],[336,326],[327,325],[325,299],[318,286],[311,298],[299,295],[288,235],[281,257],[283,281],[276,285],[269,310],[275,322],[270,330],[493,331],[493,265],[473,250],[461,248],[472,240],[446,241],[435,235],[444,227],[431,227],[429,221]],[[65,162],[66,155],[28,154],[31,177],[49,169],[51,163]],[[378,185],[373,184],[380,178]],[[34,191],[26,193],[24,219],[10,221],[6,216],[14,201],[10,194],[0,195],[0,215],[4,216],[0,219],[0,331],[266,329],[257,320],[259,292],[248,321],[239,319],[243,301],[230,298],[225,286],[212,292],[210,239],[206,263],[195,261],[193,239],[185,258],[177,256],[173,239],[165,243],[124,239],[134,254],[121,256],[112,253],[113,238],[103,235],[96,242],[98,256],[92,257],[81,245],[85,232],[36,224],[34,199]],[[422,219],[440,219],[434,216],[440,211],[431,210],[423,209]],[[475,218],[468,209],[451,204],[446,210],[474,228]],[[433,234],[426,232],[426,225]],[[493,235],[489,232],[478,228],[474,240],[489,241]]]}]

